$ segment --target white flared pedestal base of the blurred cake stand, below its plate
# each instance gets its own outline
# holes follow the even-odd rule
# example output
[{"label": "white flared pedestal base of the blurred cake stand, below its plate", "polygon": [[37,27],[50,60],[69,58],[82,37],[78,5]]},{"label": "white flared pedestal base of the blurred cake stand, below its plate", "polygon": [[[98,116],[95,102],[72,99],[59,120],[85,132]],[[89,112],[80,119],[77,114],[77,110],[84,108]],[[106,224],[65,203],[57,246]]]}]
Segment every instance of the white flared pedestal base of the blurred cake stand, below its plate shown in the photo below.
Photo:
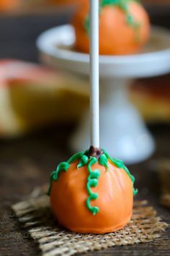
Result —
[{"label": "white flared pedestal base of the blurred cake stand, below its plate", "polygon": [[[153,153],[155,145],[143,119],[128,100],[130,82],[101,80],[100,142],[112,157],[125,163],[138,163]],[[89,127],[87,110],[71,139],[71,149],[75,152],[89,148]]]}]

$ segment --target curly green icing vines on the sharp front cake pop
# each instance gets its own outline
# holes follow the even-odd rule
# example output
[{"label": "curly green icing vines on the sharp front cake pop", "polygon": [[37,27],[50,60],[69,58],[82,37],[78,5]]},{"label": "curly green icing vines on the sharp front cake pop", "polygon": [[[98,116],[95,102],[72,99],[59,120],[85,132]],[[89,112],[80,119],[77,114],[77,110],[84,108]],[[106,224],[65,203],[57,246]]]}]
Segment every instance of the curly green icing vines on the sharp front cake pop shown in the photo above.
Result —
[{"label": "curly green icing vines on the sharp front cake pop", "polygon": [[133,195],[136,195],[138,193],[138,189],[134,188],[135,177],[132,174],[130,174],[130,171],[125,166],[123,161],[117,158],[111,158],[107,153],[107,151],[105,151],[104,149],[102,149],[102,151],[103,153],[99,157],[99,160],[97,160],[97,158],[92,156],[88,157],[87,155],[89,150],[86,150],[84,153],[80,152],[72,155],[67,162],[60,163],[56,168],[56,170],[53,171],[52,174],[50,175],[50,186],[48,189],[48,195],[50,195],[50,190],[51,190],[53,181],[58,180],[58,176],[60,172],[68,171],[68,168],[70,167],[70,163],[73,163],[73,161],[76,161],[76,160],[80,160],[77,165],[78,169],[81,168],[82,166],[86,166],[86,165],[88,166],[89,176],[87,178],[86,189],[89,194],[89,197],[86,200],[86,206],[91,211],[91,213],[93,213],[93,215],[96,215],[97,213],[99,213],[99,208],[97,206],[91,206],[90,204],[91,200],[97,200],[98,198],[98,194],[93,193],[91,191],[91,187],[97,187],[98,181],[99,181],[100,171],[98,169],[94,169],[94,171],[91,170],[91,166],[97,163],[97,161],[101,166],[104,166],[106,168],[106,171],[109,171],[108,161],[112,162],[115,166],[117,166],[117,168],[122,168],[130,177],[133,183]]}]

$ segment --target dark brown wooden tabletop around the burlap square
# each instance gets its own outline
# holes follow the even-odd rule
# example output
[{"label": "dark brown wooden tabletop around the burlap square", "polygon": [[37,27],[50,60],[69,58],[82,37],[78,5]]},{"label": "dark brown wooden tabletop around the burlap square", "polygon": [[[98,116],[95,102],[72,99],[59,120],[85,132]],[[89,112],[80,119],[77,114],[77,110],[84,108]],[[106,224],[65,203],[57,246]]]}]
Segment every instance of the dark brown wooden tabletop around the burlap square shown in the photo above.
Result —
[{"label": "dark brown wooden tabletop around the burlap square", "polygon": [[[0,141],[0,255],[40,255],[37,245],[22,229],[11,205],[24,200],[36,186],[49,180],[50,172],[60,161],[68,158],[68,137],[72,126],[53,127],[15,140]],[[170,156],[170,126],[150,127],[156,139],[156,153],[143,163],[129,166],[136,177],[138,198],[147,199],[159,216],[170,221],[169,210],[159,205],[160,184],[153,171],[153,160]],[[68,132],[69,131],[69,132]],[[170,230],[149,244],[115,247],[88,255],[170,255]]]}]

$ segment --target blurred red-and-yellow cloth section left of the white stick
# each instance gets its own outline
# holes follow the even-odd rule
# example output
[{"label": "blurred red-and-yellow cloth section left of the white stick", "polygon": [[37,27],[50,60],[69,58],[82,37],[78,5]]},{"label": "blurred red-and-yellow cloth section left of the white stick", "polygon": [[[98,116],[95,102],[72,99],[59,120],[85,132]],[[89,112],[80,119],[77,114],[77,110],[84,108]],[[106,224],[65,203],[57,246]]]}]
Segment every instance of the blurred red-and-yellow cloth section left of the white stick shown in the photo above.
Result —
[{"label": "blurred red-and-yellow cloth section left of the white stick", "polygon": [[0,61],[0,135],[74,121],[89,98],[86,82],[22,61]]}]

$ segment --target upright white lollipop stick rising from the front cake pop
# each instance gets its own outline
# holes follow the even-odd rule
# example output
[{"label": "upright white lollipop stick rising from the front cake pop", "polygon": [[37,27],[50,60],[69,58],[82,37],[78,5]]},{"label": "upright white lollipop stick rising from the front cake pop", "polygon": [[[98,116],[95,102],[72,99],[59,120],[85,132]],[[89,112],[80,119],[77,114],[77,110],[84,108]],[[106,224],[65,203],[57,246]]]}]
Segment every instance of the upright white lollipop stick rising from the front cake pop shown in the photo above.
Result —
[{"label": "upright white lollipop stick rising from the front cake pop", "polygon": [[99,0],[90,0],[91,145],[99,148]]}]

